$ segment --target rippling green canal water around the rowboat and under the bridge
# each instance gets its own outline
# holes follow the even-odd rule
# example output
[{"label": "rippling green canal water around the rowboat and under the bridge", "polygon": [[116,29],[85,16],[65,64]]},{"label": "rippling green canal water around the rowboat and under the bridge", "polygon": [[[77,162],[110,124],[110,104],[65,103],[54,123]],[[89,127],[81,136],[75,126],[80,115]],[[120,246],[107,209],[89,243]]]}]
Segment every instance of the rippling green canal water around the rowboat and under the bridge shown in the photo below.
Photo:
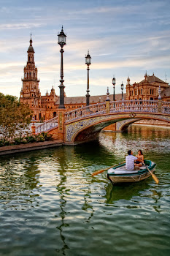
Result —
[{"label": "rippling green canal water around the rowboat and under the bridge", "polygon": [[[142,149],[156,176],[112,187],[93,171]],[[170,254],[170,129],[130,127],[97,143],[0,158],[0,255]]]}]

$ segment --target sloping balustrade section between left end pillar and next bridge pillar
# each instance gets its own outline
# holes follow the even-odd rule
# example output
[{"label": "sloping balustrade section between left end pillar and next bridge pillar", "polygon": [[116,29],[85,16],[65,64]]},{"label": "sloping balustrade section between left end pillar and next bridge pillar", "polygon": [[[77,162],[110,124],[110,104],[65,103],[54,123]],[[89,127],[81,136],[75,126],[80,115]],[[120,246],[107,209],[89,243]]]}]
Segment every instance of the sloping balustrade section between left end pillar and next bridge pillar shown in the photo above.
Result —
[{"label": "sloping balustrade section between left end pillar and next bridge pillar", "polygon": [[69,121],[73,121],[76,119],[95,116],[98,114],[106,113],[106,103],[98,103],[94,105],[89,105],[83,108],[77,108],[76,110],[72,110],[65,114],[65,121],[68,123]]}]

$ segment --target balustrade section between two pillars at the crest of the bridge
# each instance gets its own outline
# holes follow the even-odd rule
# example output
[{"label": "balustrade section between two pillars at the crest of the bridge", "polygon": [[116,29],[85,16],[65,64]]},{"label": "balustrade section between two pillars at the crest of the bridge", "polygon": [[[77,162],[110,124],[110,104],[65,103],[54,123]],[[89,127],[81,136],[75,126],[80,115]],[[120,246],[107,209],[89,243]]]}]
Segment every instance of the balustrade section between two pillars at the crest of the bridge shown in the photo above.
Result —
[{"label": "balustrade section between two pillars at the crest of the bridge", "polygon": [[110,102],[110,112],[158,112],[158,100],[120,100]]}]

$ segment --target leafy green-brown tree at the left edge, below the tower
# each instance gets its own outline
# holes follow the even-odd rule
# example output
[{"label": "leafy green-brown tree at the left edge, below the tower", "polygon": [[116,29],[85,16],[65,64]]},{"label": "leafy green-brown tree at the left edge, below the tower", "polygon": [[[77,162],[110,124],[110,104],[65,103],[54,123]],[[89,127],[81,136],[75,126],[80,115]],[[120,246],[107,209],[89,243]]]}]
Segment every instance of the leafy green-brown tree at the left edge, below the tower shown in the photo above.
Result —
[{"label": "leafy green-brown tree at the left edge, below the tower", "polygon": [[0,135],[12,138],[23,134],[31,123],[31,113],[28,104],[18,101],[18,98],[0,93]]}]

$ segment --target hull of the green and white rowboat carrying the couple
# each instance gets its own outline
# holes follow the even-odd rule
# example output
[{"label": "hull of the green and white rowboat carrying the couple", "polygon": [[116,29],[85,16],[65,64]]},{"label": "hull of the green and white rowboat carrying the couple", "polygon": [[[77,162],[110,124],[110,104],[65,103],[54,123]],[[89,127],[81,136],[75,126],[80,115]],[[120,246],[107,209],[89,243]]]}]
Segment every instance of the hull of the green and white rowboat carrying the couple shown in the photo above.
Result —
[{"label": "hull of the green and white rowboat carrying the couple", "polygon": [[[156,164],[150,161],[149,169],[151,173],[155,172],[155,166]],[[119,167],[119,165],[117,165],[117,167]],[[107,178],[109,178],[109,181],[111,181],[112,184],[139,182],[151,176],[151,173],[146,168],[139,171],[136,170],[134,172],[126,170],[122,173],[116,174],[117,167],[112,169],[113,171],[111,169],[109,169],[110,171],[107,171]]]}]

